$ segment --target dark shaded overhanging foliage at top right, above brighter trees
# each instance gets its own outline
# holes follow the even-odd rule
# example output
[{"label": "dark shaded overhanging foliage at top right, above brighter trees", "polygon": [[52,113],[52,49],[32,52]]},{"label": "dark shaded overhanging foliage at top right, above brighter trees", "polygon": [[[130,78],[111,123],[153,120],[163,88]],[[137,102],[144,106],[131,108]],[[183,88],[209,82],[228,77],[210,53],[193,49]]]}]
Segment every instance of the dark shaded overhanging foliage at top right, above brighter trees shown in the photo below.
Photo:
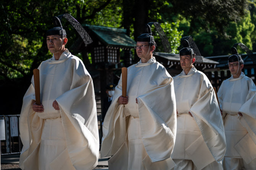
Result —
[{"label": "dark shaded overhanging foliage at top right, above brighter trees", "polygon": [[226,36],[225,28],[230,21],[240,21],[245,15],[246,0],[171,0],[172,13],[181,14],[190,20],[188,34],[199,27],[208,32],[215,28]]}]

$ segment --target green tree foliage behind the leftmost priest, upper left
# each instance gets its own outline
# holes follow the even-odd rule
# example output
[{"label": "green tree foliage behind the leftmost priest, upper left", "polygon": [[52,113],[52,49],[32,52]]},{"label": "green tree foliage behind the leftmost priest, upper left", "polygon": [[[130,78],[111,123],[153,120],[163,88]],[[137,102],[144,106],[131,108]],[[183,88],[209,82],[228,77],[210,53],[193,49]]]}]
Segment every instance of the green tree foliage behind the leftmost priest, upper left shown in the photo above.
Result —
[{"label": "green tree foliage behind the leftmost priest, upper left", "polygon": [[[112,2],[110,4],[110,2]],[[0,75],[5,79],[31,77],[32,69],[51,57],[45,32],[52,25],[52,17],[70,13],[79,22],[120,27],[118,0],[16,0],[2,2],[0,8]],[[117,6],[115,6],[117,5]],[[76,40],[73,27],[63,19],[69,35],[68,45]]]}]

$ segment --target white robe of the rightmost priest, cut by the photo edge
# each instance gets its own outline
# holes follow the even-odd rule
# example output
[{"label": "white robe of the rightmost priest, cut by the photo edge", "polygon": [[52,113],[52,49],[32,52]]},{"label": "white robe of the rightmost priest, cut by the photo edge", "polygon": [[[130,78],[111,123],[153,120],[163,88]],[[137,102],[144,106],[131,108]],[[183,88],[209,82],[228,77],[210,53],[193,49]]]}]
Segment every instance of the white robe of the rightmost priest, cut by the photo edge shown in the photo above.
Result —
[{"label": "white robe of the rightmost priest, cut by the photo edge", "polygon": [[[243,72],[237,79],[233,79],[232,76],[222,82],[218,97],[227,140],[225,157],[243,159],[245,166],[252,164],[254,167],[256,165],[256,87],[253,80]],[[238,112],[243,116],[239,116]],[[230,167],[231,163],[226,165],[228,169],[233,168]]]}]

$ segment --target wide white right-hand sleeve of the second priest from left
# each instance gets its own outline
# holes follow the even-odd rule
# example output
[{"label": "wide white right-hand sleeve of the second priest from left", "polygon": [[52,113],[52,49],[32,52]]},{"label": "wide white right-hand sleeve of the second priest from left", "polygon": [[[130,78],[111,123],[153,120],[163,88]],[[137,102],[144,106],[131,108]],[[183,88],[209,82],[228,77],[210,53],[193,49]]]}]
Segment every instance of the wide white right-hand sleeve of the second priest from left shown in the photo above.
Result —
[{"label": "wide white right-hand sleeve of the second priest from left", "polygon": [[141,136],[151,162],[170,158],[177,130],[172,77],[164,85],[151,89],[145,95],[138,96],[138,104]]}]

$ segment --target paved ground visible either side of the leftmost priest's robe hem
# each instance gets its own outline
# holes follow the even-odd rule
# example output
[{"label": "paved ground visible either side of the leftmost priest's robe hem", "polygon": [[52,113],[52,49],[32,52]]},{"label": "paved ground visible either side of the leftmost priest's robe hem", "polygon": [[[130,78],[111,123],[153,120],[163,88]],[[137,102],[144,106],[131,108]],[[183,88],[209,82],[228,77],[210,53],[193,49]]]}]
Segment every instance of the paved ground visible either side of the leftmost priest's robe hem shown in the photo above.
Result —
[{"label": "paved ground visible either side of the leftmost priest's robe hem", "polygon": [[[98,165],[94,170],[108,170],[108,158],[99,159]],[[19,168],[19,154],[1,156],[0,170],[21,170]]]}]

